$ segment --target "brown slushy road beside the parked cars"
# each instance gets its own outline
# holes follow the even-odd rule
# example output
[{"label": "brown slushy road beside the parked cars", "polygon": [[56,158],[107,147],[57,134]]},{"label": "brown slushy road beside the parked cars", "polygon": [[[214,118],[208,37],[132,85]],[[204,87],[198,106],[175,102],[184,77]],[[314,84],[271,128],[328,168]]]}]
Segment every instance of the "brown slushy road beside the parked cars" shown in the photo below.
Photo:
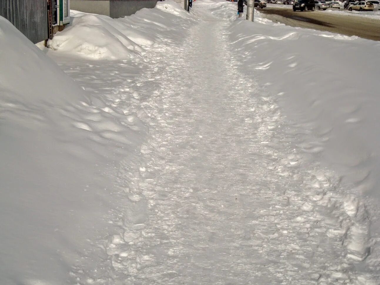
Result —
[{"label": "brown slushy road beside the parked cars", "polygon": [[293,12],[292,9],[266,7],[259,10],[265,17],[293,27],[359,36],[380,41],[380,20],[365,17],[337,15],[325,11]]}]

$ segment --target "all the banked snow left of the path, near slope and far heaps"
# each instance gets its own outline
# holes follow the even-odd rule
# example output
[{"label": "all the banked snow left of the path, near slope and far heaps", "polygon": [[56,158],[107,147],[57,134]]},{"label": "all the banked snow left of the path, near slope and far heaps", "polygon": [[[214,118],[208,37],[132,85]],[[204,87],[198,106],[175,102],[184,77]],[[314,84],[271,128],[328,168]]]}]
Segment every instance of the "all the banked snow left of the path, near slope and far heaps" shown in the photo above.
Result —
[{"label": "all the banked snow left of the path, near slope and far heaps", "polygon": [[[189,23],[175,3],[157,6],[122,19],[73,12],[49,42],[55,50],[43,51],[0,17],[1,284],[73,284],[75,264],[107,268],[101,247],[118,231],[114,209],[134,203],[115,186],[117,167],[133,167],[147,133],[139,118],[149,119],[141,106],[157,96],[143,54],[181,41]],[[46,54],[70,59],[67,73],[82,77]],[[99,59],[103,74],[93,71]],[[136,76],[152,82],[146,95],[130,89]]]}]

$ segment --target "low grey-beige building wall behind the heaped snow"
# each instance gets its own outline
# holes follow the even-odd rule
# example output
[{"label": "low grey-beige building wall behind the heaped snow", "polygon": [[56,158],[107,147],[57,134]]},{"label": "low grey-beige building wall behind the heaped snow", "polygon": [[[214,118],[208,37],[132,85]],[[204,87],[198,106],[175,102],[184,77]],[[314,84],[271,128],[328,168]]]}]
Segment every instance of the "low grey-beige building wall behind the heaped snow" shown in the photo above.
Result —
[{"label": "low grey-beige building wall behind the heaped snow", "polygon": [[130,16],[142,8],[154,8],[157,0],[71,0],[70,8],[112,18]]}]

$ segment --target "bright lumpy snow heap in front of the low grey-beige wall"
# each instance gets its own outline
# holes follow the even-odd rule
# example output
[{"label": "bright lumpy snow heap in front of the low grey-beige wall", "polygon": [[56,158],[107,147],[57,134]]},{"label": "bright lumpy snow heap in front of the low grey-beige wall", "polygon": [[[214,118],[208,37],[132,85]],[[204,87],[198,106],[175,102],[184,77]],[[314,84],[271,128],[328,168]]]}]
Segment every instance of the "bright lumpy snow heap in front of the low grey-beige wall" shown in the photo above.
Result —
[{"label": "bright lumpy snow heap in front of the low grey-beige wall", "polygon": [[[161,11],[165,12],[166,21],[162,21]],[[178,28],[173,25],[178,16],[190,19],[184,9],[171,1],[158,2],[155,9],[144,8],[119,19],[71,10],[72,23],[49,40],[48,46],[61,53],[75,51],[81,57],[94,60],[133,58],[140,55],[144,47],[167,41],[165,32]],[[169,33],[169,37],[172,36],[173,33]]]}]

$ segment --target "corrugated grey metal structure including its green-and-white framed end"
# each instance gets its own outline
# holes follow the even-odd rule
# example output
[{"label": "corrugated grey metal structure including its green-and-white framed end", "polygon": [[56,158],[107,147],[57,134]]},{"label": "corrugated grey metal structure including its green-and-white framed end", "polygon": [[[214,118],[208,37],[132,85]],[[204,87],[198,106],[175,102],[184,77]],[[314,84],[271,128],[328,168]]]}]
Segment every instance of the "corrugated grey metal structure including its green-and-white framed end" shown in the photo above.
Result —
[{"label": "corrugated grey metal structure including its green-and-white framed end", "polygon": [[0,16],[39,43],[70,23],[70,0],[0,0]]}]

